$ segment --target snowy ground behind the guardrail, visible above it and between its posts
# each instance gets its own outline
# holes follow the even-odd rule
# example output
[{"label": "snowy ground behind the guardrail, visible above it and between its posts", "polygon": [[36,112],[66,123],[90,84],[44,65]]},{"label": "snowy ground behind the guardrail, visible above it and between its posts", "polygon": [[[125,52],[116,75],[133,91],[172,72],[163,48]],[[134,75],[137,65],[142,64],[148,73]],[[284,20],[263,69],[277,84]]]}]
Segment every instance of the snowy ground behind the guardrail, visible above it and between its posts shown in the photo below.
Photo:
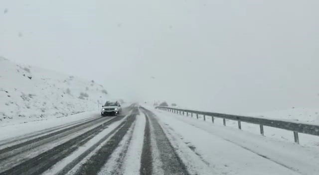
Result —
[{"label": "snowy ground behind the guardrail, visible above it and between its posts", "polygon": [[[149,106],[149,107],[152,108],[152,106]],[[181,109],[184,109],[184,108],[181,108]],[[206,110],[206,111],[209,111],[209,110]],[[240,115],[319,125],[319,109],[316,109],[316,108],[291,108],[286,110],[277,110],[277,111],[270,111],[270,112],[254,112],[254,113],[240,114]],[[196,117],[194,116],[194,119],[195,118]],[[203,115],[198,115],[198,118],[200,121],[203,121]],[[214,125],[223,126],[222,118],[215,117],[214,121],[215,121]],[[206,121],[204,122],[212,123],[211,117],[206,116]],[[232,128],[238,128],[238,122],[235,120],[226,119],[226,126],[229,126]],[[242,127],[242,130],[244,131],[248,131],[254,134],[260,133],[260,127],[257,124],[241,122],[241,127]],[[280,140],[280,141],[285,141],[285,142],[294,141],[294,135],[292,131],[264,126],[264,132],[266,137],[270,137],[270,138]],[[319,146],[318,136],[299,133],[299,140],[300,140],[300,144],[303,146],[312,146],[312,147]]]}]

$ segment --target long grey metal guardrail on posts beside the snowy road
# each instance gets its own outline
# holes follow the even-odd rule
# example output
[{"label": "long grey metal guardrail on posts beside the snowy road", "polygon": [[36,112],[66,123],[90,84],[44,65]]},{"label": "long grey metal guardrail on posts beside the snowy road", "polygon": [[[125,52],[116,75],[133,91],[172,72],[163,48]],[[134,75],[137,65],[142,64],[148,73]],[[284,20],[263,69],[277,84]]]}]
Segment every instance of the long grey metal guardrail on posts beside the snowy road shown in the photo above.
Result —
[{"label": "long grey metal guardrail on posts beside the snowy road", "polygon": [[173,112],[173,113],[179,113],[182,115],[185,115],[185,113],[186,113],[187,116],[189,114],[191,116],[193,116],[193,114],[196,114],[197,119],[198,119],[198,115],[203,115],[204,121],[206,120],[206,116],[210,116],[212,123],[214,123],[214,117],[222,118],[224,126],[226,126],[226,119],[236,120],[236,121],[238,121],[238,128],[239,129],[242,129],[241,122],[258,124],[260,126],[260,134],[261,135],[264,135],[264,126],[270,126],[270,127],[274,127],[274,128],[280,128],[280,129],[293,131],[295,143],[298,143],[298,144],[299,144],[298,133],[319,136],[319,125],[311,125],[311,124],[298,123],[298,122],[294,122],[294,121],[266,119],[266,118],[259,118],[259,117],[230,115],[230,114],[222,114],[222,113],[215,113],[215,112],[178,109],[178,108],[165,107],[165,106],[157,106],[155,108],[160,109],[160,110]]}]

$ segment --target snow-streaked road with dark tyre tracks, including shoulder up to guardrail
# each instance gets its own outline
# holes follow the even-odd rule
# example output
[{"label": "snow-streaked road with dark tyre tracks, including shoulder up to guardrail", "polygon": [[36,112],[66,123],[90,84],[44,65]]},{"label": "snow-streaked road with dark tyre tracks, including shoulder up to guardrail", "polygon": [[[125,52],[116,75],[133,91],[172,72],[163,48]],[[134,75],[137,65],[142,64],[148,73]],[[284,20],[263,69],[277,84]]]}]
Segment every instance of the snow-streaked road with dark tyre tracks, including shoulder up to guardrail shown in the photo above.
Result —
[{"label": "snow-streaked road with dark tyre tracks, including shoulder up to guardrail", "polygon": [[318,148],[137,104],[0,141],[0,175],[318,175],[318,165]]}]

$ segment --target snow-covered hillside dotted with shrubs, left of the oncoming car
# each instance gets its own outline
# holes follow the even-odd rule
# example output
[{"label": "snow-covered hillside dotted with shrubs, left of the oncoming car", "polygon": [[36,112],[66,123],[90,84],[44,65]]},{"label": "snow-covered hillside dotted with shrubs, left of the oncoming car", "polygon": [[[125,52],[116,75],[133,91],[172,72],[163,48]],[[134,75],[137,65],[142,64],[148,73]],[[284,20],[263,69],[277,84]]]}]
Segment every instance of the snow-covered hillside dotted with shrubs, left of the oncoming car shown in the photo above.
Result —
[{"label": "snow-covered hillside dotted with shrubs, left of the oncoming car", "polygon": [[0,125],[97,110],[102,85],[0,57]]}]

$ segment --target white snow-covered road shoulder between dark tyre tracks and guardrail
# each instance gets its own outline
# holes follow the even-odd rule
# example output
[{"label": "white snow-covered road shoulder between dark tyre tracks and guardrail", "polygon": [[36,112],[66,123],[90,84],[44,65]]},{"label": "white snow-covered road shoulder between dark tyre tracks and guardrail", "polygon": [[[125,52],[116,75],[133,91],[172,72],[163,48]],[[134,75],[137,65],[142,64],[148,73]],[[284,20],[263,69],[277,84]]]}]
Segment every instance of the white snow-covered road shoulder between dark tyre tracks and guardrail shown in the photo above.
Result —
[{"label": "white snow-covered road shoulder between dark tyre tracks and guardrail", "polygon": [[[253,132],[248,124],[239,130],[231,127],[230,121],[227,122],[230,127],[225,127],[221,120],[215,120],[213,124],[211,120],[204,122],[202,118],[197,120],[196,117],[149,109],[158,116],[183,161],[194,160],[191,151],[198,155],[202,162],[197,161],[194,170],[201,174],[205,174],[205,170],[228,175],[315,175],[319,172],[318,146],[314,148],[304,135],[301,142],[306,144],[301,146],[293,143],[292,133],[290,141],[278,140],[261,136],[258,130]],[[285,135],[285,130],[267,128],[267,132]]]}]

